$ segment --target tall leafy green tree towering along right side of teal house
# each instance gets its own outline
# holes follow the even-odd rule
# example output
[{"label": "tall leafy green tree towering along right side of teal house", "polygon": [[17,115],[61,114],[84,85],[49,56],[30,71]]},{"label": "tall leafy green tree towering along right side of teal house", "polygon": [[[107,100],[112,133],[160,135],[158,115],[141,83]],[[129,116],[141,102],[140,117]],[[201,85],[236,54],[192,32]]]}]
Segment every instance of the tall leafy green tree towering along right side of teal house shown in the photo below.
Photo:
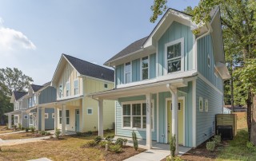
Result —
[{"label": "tall leafy green tree towering along right side of teal house", "polygon": [[[156,4],[156,5],[155,5]],[[150,22],[155,22],[158,18],[155,14],[161,15],[166,9],[166,1],[154,0],[153,16],[150,18]],[[246,74],[251,67],[251,61],[256,58],[256,1],[255,0],[201,0],[193,10],[194,22],[208,23],[211,20],[210,11],[214,7],[219,6],[221,10],[221,22],[222,33],[225,45],[226,55],[231,54],[235,57],[242,57],[242,61],[239,66],[239,77]],[[233,60],[230,61],[233,63]],[[233,72],[233,65],[230,64],[230,68]],[[248,65],[248,66],[243,66]],[[246,75],[248,80],[254,80],[254,73]],[[233,75],[232,75],[233,76]],[[234,81],[232,77],[232,81]],[[249,132],[249,139],[252,140],[251,132],[255,132],[256,124],[254,124],[256,118],[252,114],[256,112],[256,100],[253,106],[254,88],[253,84],[248,81],[243,81],[243,90],[246,92],[246,104],[247,104],[247,125]],[[253,120],[252,120],[253,119]],[[253,122],[253,124],[252,124]],[[253,129],[251,131],[251,129]],[[254,142],[256,145],[256,141]]]}]

